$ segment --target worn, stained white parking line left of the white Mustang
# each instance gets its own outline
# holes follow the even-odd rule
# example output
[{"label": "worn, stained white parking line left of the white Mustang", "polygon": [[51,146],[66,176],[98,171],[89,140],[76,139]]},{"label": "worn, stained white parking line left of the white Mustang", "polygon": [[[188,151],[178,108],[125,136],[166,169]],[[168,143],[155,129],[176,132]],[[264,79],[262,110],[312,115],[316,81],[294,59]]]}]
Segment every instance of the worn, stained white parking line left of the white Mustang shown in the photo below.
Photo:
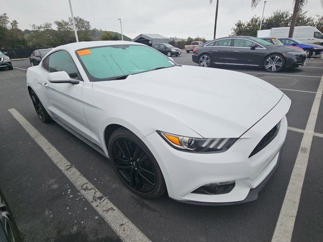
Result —
[{"label": "worn, stained white parking line left of the white Mustang", "polygon": [[16,109],[9,112],[34,139],[48,157],[61,169],[92,207],[115,230],[123,241],[150,241],[109,199],[104,197],[52,144],[46,140]]}]

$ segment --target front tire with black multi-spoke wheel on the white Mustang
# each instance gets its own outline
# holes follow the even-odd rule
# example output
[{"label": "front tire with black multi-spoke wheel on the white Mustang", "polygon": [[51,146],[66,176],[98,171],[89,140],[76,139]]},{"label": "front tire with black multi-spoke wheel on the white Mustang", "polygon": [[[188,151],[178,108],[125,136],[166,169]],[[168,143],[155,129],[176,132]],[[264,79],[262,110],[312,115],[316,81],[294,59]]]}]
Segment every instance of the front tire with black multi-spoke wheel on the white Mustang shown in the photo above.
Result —
[{"label": "front tire with black multi-spoke wheel on the white Mustang", "polygon": [[148,147],[132,132],[120,128],[109,139],[109,156],[127,188],[143,198],[157,198],[166,191],[159,165]]}]

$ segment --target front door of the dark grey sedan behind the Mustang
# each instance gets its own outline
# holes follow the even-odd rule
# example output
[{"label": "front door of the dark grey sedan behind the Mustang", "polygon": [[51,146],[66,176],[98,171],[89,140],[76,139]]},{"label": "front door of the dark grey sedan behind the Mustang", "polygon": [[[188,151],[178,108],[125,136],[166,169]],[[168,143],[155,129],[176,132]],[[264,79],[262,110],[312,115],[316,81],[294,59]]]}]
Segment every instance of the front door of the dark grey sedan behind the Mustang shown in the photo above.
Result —
[{"label": "front door of the dark grey sedan behind the Mustang", "polygon": [[244,38],[234,38],[232,46],[232,64],[259,66],[259,57],[257,49],[251,48],[252,44],[256,44],[251,40]]}]

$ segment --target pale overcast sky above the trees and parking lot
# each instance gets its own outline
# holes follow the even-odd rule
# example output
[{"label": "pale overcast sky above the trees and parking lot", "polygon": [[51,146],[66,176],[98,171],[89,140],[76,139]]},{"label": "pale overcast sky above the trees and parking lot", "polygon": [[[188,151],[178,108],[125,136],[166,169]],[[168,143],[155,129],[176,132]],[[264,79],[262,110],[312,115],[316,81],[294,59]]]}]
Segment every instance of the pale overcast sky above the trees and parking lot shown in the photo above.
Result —
[{"label": "pale overcast sky above the trees and parking lot", "polygon": [[[220,0],[217,37],[231,33],[238,20],[261,16],[262,1],[256,9],[251,0]],[[292,0],[267,0],[264,16],[275,10],[293,10]],[[187,38],[213,35],[216,0],[72,0],[74,16],[91,23],[92,28],[120,31],[118,18],[123,22],[123,33],[131,38],[141,33],[158,33],[167,37]],[[308,15],[323,14],[319,0],[309,0],[305,7]],[[31,24],[41,24],[70,17],[68,0],[11,0],[3,1],[0,14],[7,13],[16,19],[19,28],[31,29]],[[56,26],[53,25],[53,28]]]}]

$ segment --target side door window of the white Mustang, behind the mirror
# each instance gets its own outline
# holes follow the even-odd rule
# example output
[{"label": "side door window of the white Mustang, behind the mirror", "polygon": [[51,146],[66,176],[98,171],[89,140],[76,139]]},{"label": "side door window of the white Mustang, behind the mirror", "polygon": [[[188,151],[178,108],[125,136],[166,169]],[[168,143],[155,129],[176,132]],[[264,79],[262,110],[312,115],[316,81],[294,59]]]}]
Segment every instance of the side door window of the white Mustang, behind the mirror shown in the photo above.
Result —
[{"label": "side door window of the white Mustang, behind the mirror", "polygon": [[67,74],[69,74],[70,78],[82,80],[78,74],[72,57],[68,53],[65,51],[57,51],[49,55],[49,57],[49,72],[65,71]]}]

